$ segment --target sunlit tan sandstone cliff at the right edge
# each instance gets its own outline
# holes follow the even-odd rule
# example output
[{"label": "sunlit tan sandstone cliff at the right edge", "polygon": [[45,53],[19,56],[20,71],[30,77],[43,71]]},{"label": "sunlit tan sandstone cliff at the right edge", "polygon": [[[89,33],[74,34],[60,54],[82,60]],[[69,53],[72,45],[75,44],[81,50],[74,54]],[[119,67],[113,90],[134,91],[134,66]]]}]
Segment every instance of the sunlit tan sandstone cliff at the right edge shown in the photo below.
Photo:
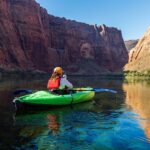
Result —
[{"label": "sunlit tan sandstone cliff at the right edge", "polygon": [[146,72],[150,70],[150,29],[129,53],[129,62],[125,70]]}]

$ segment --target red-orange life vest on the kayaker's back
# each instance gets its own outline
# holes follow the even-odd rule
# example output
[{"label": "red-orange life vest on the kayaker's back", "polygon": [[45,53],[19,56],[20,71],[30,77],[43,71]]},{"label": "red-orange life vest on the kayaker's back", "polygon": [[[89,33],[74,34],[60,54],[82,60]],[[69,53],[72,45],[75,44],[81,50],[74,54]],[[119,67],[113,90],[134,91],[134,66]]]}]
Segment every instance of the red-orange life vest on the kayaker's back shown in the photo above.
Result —
[{"label": "red-orange life vest on the kayaker's back", "polygon": [[60,86],[60,79],[61,78],[49,79],[48,84],[47,84],[47,88],[49,90],[58,89]]}]

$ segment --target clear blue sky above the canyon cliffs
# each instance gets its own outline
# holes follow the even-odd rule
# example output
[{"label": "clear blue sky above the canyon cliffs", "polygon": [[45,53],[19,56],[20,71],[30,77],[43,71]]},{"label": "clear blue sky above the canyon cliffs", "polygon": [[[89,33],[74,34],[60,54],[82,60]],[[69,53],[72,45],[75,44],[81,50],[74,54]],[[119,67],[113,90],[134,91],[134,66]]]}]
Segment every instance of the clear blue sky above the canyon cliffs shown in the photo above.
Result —
[{"label": "clear blue sky above the canyon cliffs", "polygon": [[122,31],[124,40],[139,39],[150,27],[150,0],[36,0],[48,13]]}]

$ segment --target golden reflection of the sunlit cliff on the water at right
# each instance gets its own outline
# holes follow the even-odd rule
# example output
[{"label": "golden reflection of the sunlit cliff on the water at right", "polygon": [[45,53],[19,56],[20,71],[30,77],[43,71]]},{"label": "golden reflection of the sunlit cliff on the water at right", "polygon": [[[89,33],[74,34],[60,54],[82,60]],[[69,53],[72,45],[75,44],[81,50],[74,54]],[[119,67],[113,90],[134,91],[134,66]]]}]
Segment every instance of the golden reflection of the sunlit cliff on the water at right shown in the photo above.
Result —
[{"label": "golden reflection of the sunlit cliff on the water at right", "polygon": [[126,103],[140,117],[140,124],[150,139],[150,87],[143,83],[124,84]]}]

